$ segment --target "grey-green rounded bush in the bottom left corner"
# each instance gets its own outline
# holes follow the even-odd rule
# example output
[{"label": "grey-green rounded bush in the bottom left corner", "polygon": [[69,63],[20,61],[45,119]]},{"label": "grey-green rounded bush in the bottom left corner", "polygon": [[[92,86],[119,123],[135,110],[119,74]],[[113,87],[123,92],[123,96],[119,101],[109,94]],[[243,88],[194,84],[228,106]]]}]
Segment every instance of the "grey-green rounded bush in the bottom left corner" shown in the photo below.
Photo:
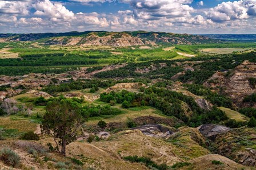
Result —
[{"label": "grey-green rounded bush in the bottom left corner", "polygon": [[0,159],[11,167],[19,167],[20,164],[20,157],[10,148],[3,148],[0,151]]}]

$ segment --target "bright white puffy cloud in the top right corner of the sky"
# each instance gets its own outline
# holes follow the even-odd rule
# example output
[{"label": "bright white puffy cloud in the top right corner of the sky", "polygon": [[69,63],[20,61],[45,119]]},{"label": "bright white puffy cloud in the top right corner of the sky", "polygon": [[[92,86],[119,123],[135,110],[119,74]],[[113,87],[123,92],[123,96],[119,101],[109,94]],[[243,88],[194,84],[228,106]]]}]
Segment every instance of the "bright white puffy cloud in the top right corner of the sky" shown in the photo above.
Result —
[{"label": "bright white puffy cloud in the top right corner of the sky", "polygon": [[222,2],[218,6],[211,8],[209,12],[206,12],[206,16],[214,22],[247,19],[250,16],[256,16],[256,1]]}]

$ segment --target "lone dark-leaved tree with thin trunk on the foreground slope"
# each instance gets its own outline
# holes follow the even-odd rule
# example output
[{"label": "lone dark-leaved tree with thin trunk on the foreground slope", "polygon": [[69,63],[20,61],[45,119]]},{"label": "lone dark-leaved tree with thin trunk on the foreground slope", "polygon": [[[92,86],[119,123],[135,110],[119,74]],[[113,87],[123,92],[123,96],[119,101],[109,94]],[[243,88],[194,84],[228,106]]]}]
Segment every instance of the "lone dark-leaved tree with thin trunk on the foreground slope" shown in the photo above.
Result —
[{"label": "lone dark-leaved tree with thin trunk on the foreground slope", "polygon": [[66,146],[77,140],[83,122],[81,106],[77,102],[71,99],[55,99],[46,106],[41,131],[53,136],[55,150],[66,156]]}]

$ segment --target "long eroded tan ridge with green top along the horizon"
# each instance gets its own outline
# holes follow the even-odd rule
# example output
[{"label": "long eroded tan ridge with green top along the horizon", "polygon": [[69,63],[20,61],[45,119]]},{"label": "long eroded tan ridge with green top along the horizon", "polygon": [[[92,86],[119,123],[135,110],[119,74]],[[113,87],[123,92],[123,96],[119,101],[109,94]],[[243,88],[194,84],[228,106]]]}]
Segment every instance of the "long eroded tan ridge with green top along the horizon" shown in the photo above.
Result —
[{"label": "long eroded tan ridge with green top along the horizon", "polygon": [[43,34],[0,34],[1,41],[38,41],[45,45],[79,45],[97,46],[107,45],[111,47],[129,47],[135,45],[158,44],[199,44],[211,43],[206,36],[172,34],[166,32],[67,32],[67,33],[43,33]]}]

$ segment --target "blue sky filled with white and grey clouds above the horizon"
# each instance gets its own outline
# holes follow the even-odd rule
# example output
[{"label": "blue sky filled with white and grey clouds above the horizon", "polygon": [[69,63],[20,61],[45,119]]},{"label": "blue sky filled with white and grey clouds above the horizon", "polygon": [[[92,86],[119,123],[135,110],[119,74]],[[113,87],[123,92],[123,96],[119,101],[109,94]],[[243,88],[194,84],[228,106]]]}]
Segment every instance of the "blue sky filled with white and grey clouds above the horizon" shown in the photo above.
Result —
[{"label": "blue sky filled with white and grey clouds above the horizon", "polygon": [[256,0],[0,0],[1,33],[256,34]]}]

